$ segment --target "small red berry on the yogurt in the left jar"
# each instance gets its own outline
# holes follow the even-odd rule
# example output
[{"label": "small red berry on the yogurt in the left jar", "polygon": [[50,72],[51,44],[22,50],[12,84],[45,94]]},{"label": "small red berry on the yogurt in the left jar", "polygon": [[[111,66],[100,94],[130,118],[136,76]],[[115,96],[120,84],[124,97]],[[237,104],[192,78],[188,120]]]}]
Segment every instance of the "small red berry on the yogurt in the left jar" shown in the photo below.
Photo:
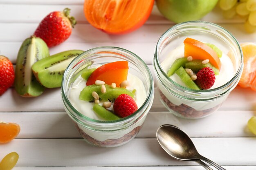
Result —
[{"label": "small red berry on the yogurt in the left jar", "polygon": [[114,113],[119,117],[126,117],[138,110],[134,99],[126,94],[119,95],[113,105]]}]

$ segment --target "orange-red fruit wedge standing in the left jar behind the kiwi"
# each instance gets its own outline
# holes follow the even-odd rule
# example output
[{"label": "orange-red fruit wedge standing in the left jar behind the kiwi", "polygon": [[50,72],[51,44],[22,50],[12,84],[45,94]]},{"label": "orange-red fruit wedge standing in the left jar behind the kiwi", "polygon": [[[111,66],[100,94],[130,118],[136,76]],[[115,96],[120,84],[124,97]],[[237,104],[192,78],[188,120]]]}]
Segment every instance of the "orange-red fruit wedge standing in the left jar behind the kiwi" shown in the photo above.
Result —
[{"label": "orange-red fruit wedge standing in the left jar behind the kiwi", "polygon": [[98,67],[88,78],[86,85],[92,85],[96,80],[101,80],[108,85],[112,83],[120,87],[121,82],[127,79],[128,75],[128,62],[118,61],[104,64]]}]

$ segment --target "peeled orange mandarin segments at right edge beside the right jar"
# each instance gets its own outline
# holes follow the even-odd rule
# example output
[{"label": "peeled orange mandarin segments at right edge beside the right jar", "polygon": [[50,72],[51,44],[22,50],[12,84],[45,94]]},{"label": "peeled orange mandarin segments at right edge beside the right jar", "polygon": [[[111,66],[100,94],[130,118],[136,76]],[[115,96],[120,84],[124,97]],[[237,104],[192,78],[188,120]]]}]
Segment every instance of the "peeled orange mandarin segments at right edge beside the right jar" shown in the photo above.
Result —
[{"label": "peeled orange mandarin segments at right edge beside the right jar", "polygon": [[256,44],[240,44],[244,56],[244,68],[238,85],[256,90]]}]

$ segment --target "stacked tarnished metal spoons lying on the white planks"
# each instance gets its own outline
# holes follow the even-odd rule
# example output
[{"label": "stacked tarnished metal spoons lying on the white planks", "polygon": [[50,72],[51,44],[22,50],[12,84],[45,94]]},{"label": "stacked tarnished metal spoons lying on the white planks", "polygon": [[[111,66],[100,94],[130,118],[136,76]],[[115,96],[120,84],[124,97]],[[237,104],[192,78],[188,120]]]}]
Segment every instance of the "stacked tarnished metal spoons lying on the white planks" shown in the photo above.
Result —
[{"label": "stacked tarnished metal spoons lying on the white planks", "polygon": [[[217,163],[200,155],[190,137],[173,125],[162,125],[157,129],[157,141],[171,157],[182,161],[196,161],[204,168],[212,170],[203,161],[208,162],[218,170],[225,170]],[[203,163],[203,164],[202,164]],[[205,166],[206,165],[206,166]]]}]

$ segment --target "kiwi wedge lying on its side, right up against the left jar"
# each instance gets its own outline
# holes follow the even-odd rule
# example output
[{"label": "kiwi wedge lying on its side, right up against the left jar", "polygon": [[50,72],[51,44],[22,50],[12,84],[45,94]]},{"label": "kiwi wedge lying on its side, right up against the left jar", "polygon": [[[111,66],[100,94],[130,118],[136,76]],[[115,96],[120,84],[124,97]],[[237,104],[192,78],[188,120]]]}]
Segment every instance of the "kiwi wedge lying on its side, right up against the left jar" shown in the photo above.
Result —
[{"label": "kiwi wedge lying on its side, right up against the left jar", "polygon": [[40,84],[47,88],[61,87],[63,73],[74,58],[83,53],[81,50],[63,51],[39,60],[32,71]]}]

